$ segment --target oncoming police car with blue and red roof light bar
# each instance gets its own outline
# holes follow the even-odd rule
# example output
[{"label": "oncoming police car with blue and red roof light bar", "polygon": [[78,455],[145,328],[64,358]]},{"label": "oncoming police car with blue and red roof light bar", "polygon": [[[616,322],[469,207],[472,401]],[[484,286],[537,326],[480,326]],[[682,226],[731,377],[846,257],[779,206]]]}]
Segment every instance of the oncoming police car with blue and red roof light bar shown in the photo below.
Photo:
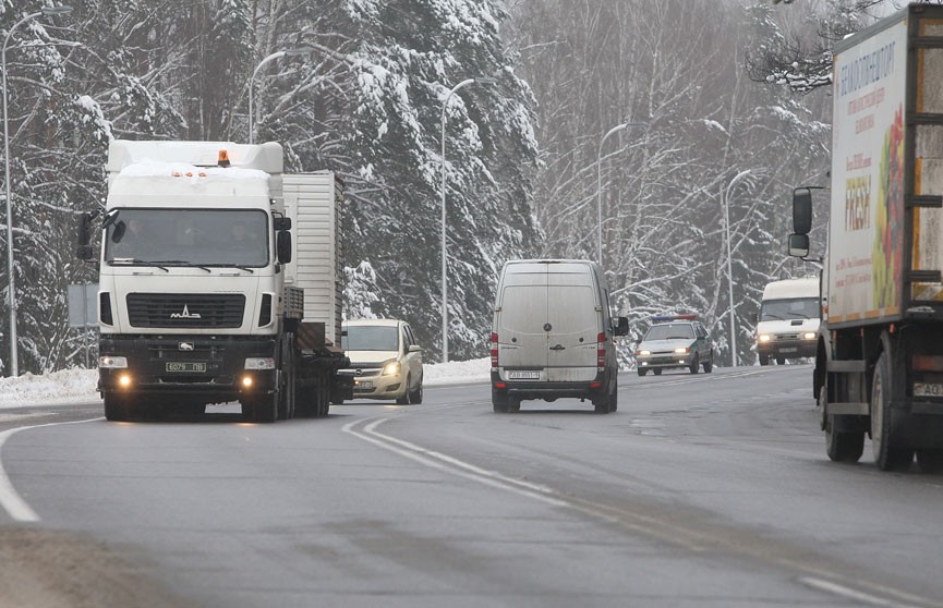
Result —
[{"label": "oncoming police car with blue and red roof light bar", "polygon": [[636,367],[639,376],[652,370],[656,376],[663,369],[687,368],[705,374],[714,368],[714,342],[698,320],[698,315],[652,317],[652,327],[636,346]]}]

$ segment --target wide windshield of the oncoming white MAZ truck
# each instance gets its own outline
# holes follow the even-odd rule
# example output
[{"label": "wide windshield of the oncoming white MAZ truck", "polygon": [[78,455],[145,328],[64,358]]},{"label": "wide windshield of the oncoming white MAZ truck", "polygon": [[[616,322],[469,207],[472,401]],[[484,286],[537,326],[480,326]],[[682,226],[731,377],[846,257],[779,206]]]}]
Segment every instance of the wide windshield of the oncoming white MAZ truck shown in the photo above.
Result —
[{"label": "wide windshield of the oncoming white MAZ truck", "polygon": [[105,262],[262,268],[268,232],[258,209],[118,209],[105,234]]}]

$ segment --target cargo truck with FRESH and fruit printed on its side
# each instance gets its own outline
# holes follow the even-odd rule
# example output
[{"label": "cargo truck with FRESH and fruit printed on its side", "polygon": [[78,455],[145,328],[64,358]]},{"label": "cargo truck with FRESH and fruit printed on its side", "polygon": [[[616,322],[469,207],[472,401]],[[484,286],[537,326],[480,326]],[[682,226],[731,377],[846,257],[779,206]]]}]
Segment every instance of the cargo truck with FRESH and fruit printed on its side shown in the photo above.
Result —
[{"label": "cargo truck with FRESH and fruit printed on its side", "polygon": [[[834,461],[943,469],[943,7],[834,48],[831,217],[813,392]],[[793,200],[807,258],[811,189]]]}]

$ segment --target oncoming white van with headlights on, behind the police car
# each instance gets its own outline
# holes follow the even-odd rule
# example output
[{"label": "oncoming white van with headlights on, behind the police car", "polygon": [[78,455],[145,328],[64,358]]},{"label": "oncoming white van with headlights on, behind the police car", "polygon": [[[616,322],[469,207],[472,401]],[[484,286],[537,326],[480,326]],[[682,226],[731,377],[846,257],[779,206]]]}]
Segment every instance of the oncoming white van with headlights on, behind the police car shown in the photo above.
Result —
[{"label": "oncoming white van with headlights on, behind the police car", "polygon": [[815,356],[822,302],[818,278],[773,281],[763,290],[757,324],[760,365]]}]

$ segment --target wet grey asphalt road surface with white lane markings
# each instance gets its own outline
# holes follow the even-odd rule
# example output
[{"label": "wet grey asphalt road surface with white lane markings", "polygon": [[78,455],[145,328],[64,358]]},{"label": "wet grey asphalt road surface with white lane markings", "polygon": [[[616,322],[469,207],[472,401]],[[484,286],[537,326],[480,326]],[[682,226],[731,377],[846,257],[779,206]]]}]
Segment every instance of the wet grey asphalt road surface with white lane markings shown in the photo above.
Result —
[{"label": "wet grey asphalt road surface with white lane markings", "polygon": [[[943,606],[943,476],[832,463],[811,367],[322,419],[0,412],[0,606]],[[26,428],[28,427],[28,428]]]}]

